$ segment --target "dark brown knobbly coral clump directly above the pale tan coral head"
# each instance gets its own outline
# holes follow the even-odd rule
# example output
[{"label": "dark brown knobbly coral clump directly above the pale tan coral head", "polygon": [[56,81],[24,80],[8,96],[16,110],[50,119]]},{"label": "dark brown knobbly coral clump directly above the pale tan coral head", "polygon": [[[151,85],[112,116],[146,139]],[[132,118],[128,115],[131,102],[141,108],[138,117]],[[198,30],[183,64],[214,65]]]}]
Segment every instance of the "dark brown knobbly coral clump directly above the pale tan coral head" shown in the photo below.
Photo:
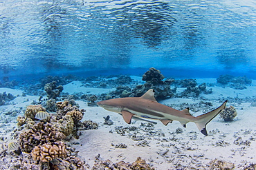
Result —
[{"label": "dark brown knobbly coral clump directly above the pale tan coral head", "polygon": [[64,138],[64,134],[56,131],[50,123],[37,123],[30,129],[21,132],[19,135],[19,145],[21,151],[30,153],[37,145],[43,145],[47,142],[55,142]]}]

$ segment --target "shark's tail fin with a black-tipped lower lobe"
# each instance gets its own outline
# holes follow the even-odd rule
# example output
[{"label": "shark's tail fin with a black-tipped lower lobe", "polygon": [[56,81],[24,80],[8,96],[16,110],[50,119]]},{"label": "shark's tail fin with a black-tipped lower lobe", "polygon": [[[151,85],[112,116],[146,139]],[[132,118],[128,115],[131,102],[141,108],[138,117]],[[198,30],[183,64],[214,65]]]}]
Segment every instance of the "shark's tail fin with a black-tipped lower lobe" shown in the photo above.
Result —
[{"label": "shark's tail fin with a black-tipped lower lobe", "polygon": [[222,105],[220,107],[218,107],[217,109],[214,109],[206,114],[196,116],[197,120],[195,123],[196,123],[196,126],[198,127],[199,131],[201,131],[202,134],[204,134],[205,136],[208,136],[205,126],[210,122],[210,120],[212,120],[212,118],[214,118],[215,116],[217,116],[219,114],[221,109],[224,109],[226,107],[227,102],[228,102],[228,100],[226,100],[224,103],[222,103]]}]

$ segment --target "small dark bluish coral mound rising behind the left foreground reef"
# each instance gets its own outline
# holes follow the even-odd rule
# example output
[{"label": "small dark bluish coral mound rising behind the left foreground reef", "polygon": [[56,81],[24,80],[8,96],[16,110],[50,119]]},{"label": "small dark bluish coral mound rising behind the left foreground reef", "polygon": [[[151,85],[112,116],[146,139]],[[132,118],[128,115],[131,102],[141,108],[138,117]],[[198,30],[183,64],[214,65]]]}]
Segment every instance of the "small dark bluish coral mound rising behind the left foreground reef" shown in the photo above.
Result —
[{"label": "small dark bluish coral mound rising behind the left foreground reef", "polygon": [[60,96],[60,93],[63,90],[63,86],[57,86],[56,81],[53,81],[51,83],[47,83],[46,85],[44,85],[44,90],[46,91],[48,99],[56,99]]}]

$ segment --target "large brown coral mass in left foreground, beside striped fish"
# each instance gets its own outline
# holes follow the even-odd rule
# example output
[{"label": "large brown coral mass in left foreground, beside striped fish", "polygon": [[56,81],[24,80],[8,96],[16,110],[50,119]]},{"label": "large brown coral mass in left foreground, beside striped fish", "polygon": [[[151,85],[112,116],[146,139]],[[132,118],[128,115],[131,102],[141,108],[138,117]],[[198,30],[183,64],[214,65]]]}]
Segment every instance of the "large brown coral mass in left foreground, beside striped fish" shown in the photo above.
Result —
[{"label": "large brown coral mass in left foreground, beside striped fish", "polygon": [[[39,123],[39,120],[33,120],[36,113],[46,114],[44,112],[46,109],[42,105],[28,106],[24,116],[17,118],[18,125],[22,127],[19,128],[21,131],[15,131],[13,137],[17,139],[17,145],[19,145],[19,151],[22,152],[22,157],[17,164],[11,164],[8,167],[85,169],[85,161],[77,157],[78,151],[68,146],[70,144],[65,141],[71,139],[71,134],[77,138],[79,127],[79,130],[95,129],[97,124],[89,121],[89,125],[85,128],[84,124],[80,122],[84,110],[77,109],[76,106],[70,105],[68,101],[60,102],[57,106],[59,115],[48,115],[47,113],[51,118],[44,119],[44,121],[41,120]],[[38,115],[38,118],[43,117],[44,115]],[[74,122],[77,125],[74,125]],[[98,128],[98,125],[96,127]]]}]

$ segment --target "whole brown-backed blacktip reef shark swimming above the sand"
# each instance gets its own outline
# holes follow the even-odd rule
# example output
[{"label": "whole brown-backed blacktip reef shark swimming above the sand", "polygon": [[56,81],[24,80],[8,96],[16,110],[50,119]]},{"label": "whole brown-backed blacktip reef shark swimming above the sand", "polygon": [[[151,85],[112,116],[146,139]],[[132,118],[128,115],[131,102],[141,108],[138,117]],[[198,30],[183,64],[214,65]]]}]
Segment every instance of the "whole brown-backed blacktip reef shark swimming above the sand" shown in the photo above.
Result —
[{"label": "whole brown-backed blacktip reef shark swimming above the sand", "polygon": [[221,109],[226,107],[227,102],[228,100],[217,109],[196,117],[190,114],[188,108],[176,110],[158,103],[154,98],[154,89],[149,89],[141,97],[114,98],[100,101],[97,104],[108,111],[122,114],[122,118],[129,124],[133,116],[160,120],[163,125],[172,123],[173,120],[178,120],[183,127],[186,127],[189,122],[194,122],[199,131],[208,136],[205,126],[219,114]]}]

